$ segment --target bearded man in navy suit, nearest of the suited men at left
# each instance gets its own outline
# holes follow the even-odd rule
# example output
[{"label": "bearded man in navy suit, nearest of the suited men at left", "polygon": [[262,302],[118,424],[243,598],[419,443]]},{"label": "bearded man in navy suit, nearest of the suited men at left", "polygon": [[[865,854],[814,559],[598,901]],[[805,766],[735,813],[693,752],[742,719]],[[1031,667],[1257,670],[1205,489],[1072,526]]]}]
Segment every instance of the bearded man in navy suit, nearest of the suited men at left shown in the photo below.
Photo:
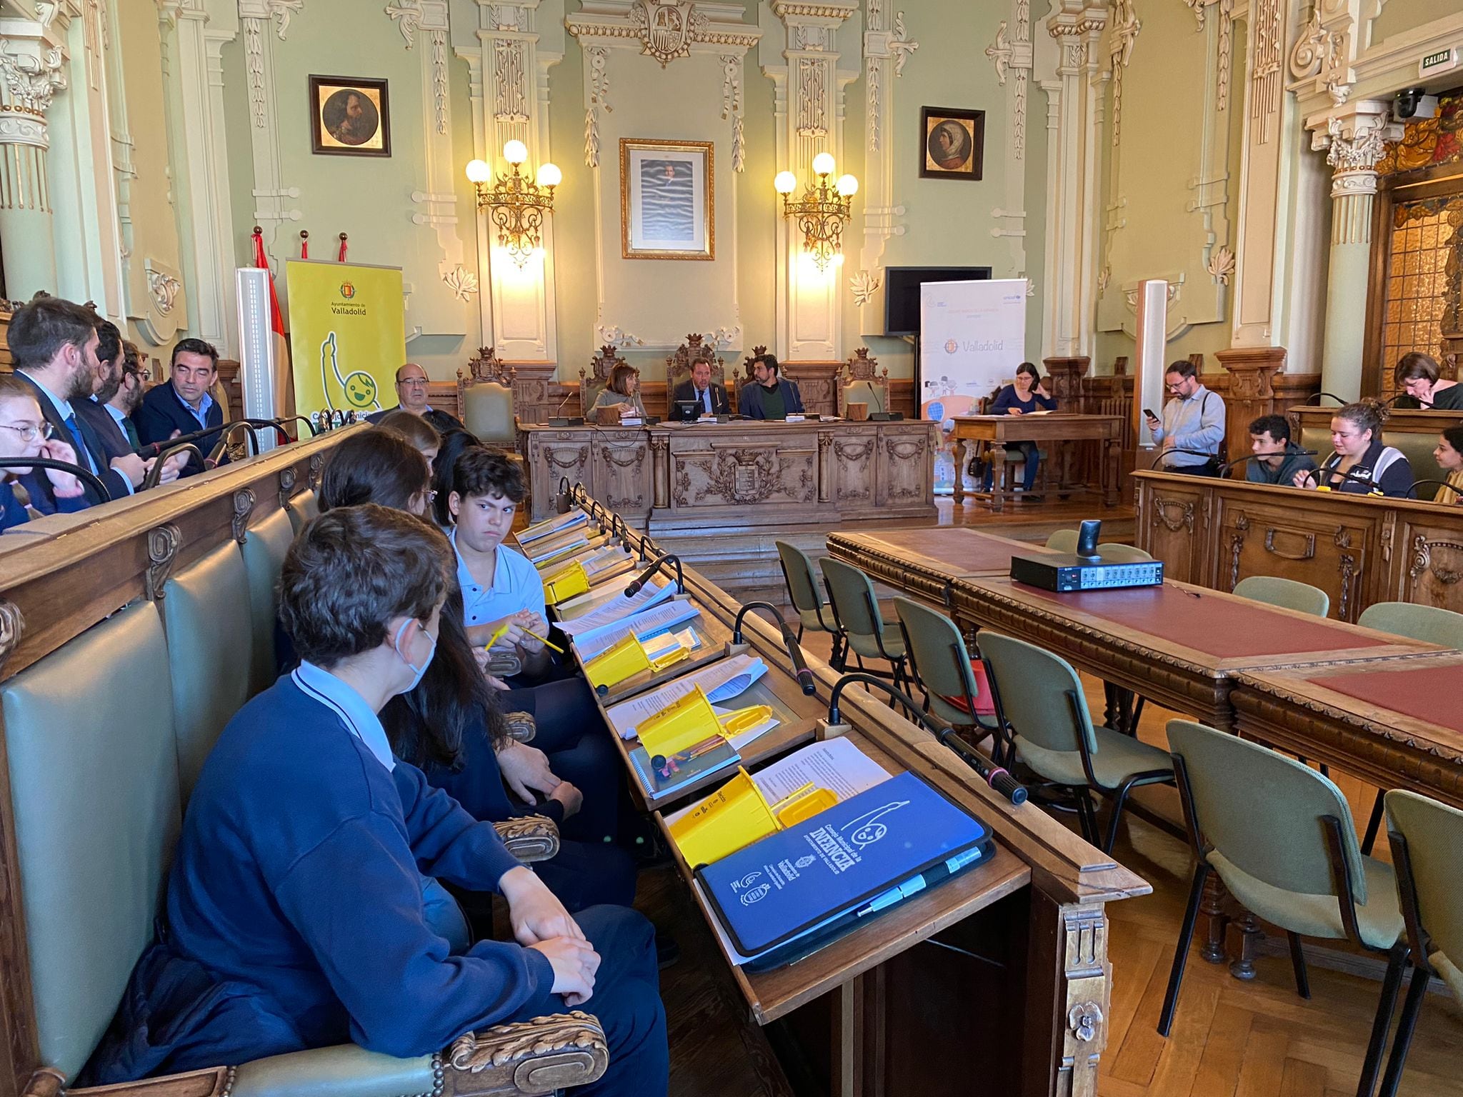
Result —
[{"label": "bearded man in navy suit, nearest of the suited men at left", "polygon": [[[124,499],[146,477],[148,462],[136,453],[108,458],[101,439],[76,415],[73,405],[73,401],[88,399],[97,385],[101,366],[97,323],[91,309],[60,297],[37,295],[12,317],[7,341],[15,376],[35,393],[53,437],[76,451],[76,464],[95,472],[111,499]],[[56,513],[56,494],[47,477],[31,472],[23,483],[31,506],[42,515]],[[88,506],[104,502],[95,487],[86,489]]]}]

